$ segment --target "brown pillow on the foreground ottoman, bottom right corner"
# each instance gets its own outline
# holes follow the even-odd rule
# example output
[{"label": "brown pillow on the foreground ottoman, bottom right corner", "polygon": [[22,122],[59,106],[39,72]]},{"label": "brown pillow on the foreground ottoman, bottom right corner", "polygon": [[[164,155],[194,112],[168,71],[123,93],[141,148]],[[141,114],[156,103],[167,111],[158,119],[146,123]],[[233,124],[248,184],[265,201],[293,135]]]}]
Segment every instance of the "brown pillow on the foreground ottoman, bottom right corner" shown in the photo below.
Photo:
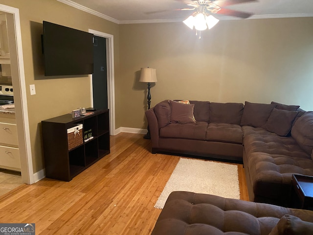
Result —
[{"label": "brown pillow on the foreground ottoman, bottom right corner", "polygon": [[312,235],[313,223],[285,214],[268,235]]}]

